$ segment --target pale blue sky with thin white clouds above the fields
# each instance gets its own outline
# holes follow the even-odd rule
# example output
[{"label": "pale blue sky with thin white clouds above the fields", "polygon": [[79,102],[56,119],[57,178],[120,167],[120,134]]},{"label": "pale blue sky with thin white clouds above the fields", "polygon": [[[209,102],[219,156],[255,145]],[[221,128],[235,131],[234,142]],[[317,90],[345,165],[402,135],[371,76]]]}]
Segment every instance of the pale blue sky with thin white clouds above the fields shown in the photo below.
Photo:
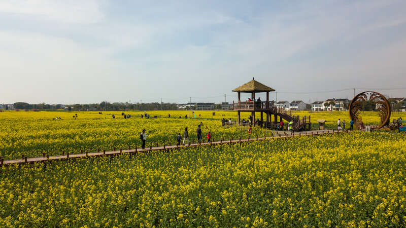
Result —
[{"label": "pale blue sky with thin white clouds above the fields", "polygon": [[288,101],[405,88],[404,12],[405,1],[3,0],[0,103],[231,102],[253,77]]}]

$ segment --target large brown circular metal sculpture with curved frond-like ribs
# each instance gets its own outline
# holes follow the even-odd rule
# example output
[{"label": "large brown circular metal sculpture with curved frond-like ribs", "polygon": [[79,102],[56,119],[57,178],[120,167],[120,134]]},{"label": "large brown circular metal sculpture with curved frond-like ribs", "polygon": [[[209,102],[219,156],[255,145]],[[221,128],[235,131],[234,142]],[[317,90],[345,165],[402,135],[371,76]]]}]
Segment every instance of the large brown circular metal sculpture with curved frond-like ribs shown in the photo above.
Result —
[{"label": "large brown circular metal sculpture with curved frond-like ribs", "polygon": [[391,112],[389,101],[386,99],[385,96],[374,91],[362,92],[355,96],[354,99],[352,99],[349,108],[351,120],[354,121],[356,123],[356,126],[358,127],[357,122],[362,111],[362,103],[368,100],[373,101],[378,108],[379,117],[381,118],[381,124],[378,126],[378,129],[382,128],[385,125],[388,125]]}]

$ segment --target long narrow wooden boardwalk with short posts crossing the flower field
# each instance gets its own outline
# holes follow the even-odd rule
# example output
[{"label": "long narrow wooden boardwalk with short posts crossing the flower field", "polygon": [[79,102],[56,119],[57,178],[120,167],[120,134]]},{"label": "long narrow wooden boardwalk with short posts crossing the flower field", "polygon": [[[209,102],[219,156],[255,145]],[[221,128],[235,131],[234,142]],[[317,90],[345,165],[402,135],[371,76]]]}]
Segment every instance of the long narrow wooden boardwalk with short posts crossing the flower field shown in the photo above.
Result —
[{"label": "long narrow wooden boardwalk with short posts crossing the flower field", "polygon": [[319,131],[307,131],[307,132],[274,132],[276,135],[270,137],[255,137],[255,138],[248,138],[248,139],[229,139],[229,140],[220,140],[216,142],[202,142],[202,143],[190,143],[188,145],[163,145],[163,146],[156,146],[156,147],[149,147],[149,148],[134,148],[134,149],[127,149],[127,150],[115,150],[115,151],[99,151],[93,153],[84,153],[84,154],[69,154],[66,153],[64,155],[56,155],[56,156],[43,156],[43,157],[36,157],[36,158],[21,158],[15,160],[0,160],[1,165],[15,165],[15,164],[27,164],[27,163],[37,163],[37,162],[51,162],[51,161],[61,161],[67,159],[77,159],[77,158],[92,158],[92,157],[100,157],[100,156],[115,156],[121,154],[138,154],[138,153],[149,153],[150,151],[159,151],[159,150],[171,150],[171,149],[180,149],[180,148],[187,148],[187,147],[194,147],[194,146],[201,146],[201,145],[219,145],[219,144],[232,144],[232,143],[243,143],[243,142],[251,142],[257,140],[264,140],[264,139],[272,139],[272,138],[288,138],[288,137],[295,137],[295,136],[304,136],[304,135],[320,135],[320,134],[330,134],[330,133],[341,133],[341,132],[348,132],[348,130],[319,130]]}]

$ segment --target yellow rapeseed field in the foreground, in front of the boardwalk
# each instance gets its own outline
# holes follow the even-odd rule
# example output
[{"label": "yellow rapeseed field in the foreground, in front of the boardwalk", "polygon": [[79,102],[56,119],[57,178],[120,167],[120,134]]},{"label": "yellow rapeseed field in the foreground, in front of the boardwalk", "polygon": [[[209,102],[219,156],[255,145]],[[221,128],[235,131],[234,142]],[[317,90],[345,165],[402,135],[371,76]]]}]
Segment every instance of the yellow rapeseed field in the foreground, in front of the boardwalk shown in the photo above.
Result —
[{"label": "yellow rapeseed field in the foreground, in front of the boardwalk", "polygon": [[351,132],[1,167],[0,226],[398,227],[405,152]]}]

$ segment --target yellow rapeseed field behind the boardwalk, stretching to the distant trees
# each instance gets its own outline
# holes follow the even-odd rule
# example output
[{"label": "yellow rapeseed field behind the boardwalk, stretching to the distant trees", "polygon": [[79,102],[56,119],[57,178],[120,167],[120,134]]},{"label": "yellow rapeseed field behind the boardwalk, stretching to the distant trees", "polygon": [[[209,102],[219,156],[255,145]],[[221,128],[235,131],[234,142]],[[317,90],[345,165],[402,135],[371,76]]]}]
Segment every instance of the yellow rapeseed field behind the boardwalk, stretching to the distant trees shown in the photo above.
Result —
[{"label": "yellow rapeseed field behind the boardwalk, stretching to the distant trees", "polygon": [[[38,157],[43,153],[48,155],[60,155],[62,150],[71,154],[83,151],[95,151],[97,148],[112,150],[113,147],[131,148],[140,147],[139,134],[142,129],[147,129],[150,136],[147,146],[155,146],[176,143],[176,136],[185,127],[189,129],[190,141],[197,141],[196,128],[202,122],[203,138],[210,130],[214,140],[221,138],[248,138],[245,128],[221,127],[221,119],[236,120],[236,111],[213,111],[194,112],[196,118],[185,119],[188,114],[192,117],[192,111],[147,111],[150,119],[142,118],[144,111],[125,111],[131,115],[130,119],[124,119],[121,111],[107,111],[99,114],[97,111],[65,112],[65,111],[3,111],[0,112],[0,155],[4,159],[18,159],[21,155],[26,157]],[[336,129],[336,122],[340,118],[346,120],[349,127],[348,112],[294,112],[299,116],[311,116],[313,128],[317,128],[318,119],[327,120],[327,128]],[[74,118],[75,114],[78,115]],[[112,115],[115,119],[112,119]],[[168,114],[171,118],[168,118]],[[242,119],[248,120],[249,112],[242,112]],[[153,119],[158,116],[157,119]],[[61,120],[55,120],[60,117]],[[259,113],[256,114],[259,117]],[[378,124],[379,117],[376,112],[365,112],[363,121],[366,124]],[[347,127],[347,128],[348,128]],[[256,135],[269,136],[269,130],[254,128],[251,137]]]}]

